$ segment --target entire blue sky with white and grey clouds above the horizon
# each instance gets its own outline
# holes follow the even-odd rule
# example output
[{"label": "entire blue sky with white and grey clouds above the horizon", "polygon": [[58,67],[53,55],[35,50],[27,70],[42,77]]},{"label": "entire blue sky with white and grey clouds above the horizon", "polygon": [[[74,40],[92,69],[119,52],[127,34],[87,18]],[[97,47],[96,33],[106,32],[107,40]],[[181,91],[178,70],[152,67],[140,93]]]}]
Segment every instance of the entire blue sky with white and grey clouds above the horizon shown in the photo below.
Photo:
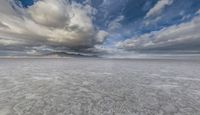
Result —
[{"label": "entire blue sky with white and grey clouds above the horizon", "polygon": [[200,0],[0,0],[0,56],[200,53]]}]

